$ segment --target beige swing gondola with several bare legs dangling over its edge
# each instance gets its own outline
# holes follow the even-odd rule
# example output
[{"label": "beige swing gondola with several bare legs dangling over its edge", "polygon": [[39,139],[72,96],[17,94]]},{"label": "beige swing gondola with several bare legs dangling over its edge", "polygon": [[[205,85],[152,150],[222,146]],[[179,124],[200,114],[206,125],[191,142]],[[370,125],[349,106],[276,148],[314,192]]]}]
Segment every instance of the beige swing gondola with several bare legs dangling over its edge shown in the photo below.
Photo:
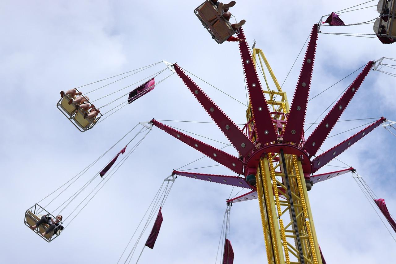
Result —
[{"label": "beige swing gondola with several bare legs dangling over its edge", "polygon": [[[77,89],[76,89],[77,90]],[[77,92],[79,92],[77,90]],[[85,99],[87,99],[84,96]],[[76,110],[76,104],[71,103],[69,104],[70,99],[76,99],[75,96],[70,96],[69,94],[65,94],[63,98],[61,98],[56,107],[69,119],[69,121],[78,129],[80,132],[85,132],[97,123],[99,119],[102,117],[102,114],[99,113],[96,118],[84,118],[84,114],[87,113],[87,111],[83,109],[78,109]],[[92,105],[89,100],[86,100],[90,105]]]}]

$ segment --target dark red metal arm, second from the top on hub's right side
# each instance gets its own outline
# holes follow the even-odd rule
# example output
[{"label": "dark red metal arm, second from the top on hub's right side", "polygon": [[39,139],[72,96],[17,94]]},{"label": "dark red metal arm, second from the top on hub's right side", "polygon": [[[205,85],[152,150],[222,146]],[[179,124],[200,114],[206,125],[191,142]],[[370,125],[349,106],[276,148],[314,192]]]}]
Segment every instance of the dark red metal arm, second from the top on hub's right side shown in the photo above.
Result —
[{"label": "dark red metal arm, second from the top on hub's right side", "polygon": [[353,96],[358,91],[360,85],[366,78],[367,74],[373,67],[374,61],[369,61],[363,71],[356,77],[352,84],[346,89],[345,93],[333,106],[333,108],[327,113],[326,117],[320,122],[320,124],[315,128],[314,132],[309,136],[305,143],[305,150],[308,152],[309,157],[315,155],[320,146],[322,146],[324,140],[326,140],[330,131],[333,129],[335,123],[338,121],[348,103],[352,100]]}]

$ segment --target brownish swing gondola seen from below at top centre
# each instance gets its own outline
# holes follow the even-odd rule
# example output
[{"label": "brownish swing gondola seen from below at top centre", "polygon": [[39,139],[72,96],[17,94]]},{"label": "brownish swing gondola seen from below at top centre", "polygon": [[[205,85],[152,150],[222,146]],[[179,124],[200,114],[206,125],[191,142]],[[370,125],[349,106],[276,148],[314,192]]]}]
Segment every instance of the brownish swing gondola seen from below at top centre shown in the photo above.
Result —
[{"label": "brownish swing gondola seen from below at top centre", "polygon": [[195,15],[202,25],[212,35],[217,43],[225,42],[230,36],[236,33],[231,27],[231,23],[222,15],[218,14],[217,6],[211,0],[207,0],[194,10]]}]

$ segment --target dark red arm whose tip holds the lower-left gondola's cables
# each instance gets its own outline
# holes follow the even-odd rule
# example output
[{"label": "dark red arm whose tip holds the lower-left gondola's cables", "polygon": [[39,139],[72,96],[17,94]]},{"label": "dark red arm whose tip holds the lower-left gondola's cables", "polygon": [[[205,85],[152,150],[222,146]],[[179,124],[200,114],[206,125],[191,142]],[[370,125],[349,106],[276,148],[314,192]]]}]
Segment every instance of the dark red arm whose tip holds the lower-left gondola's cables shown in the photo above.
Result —
[{"label": "dark red arm whose tip holds the lower-left gondola's cables", "polygon": [[221,165],[229,168],[230,170],[232,170],[238,174],[243,174],[242,161],[240,159],[238,159],[237,157],[234,157],[220,149],[212,147],[211,145],[208,145],[200,140],[192,138],[192,137],[188,136],[187,134],[184,134],[176,129],[173,129],[173,128],[167,126],[166,124],[162,124],[161,122],[156,121],[155,119],[152,119],[151,122],[158,128],[161,128],[165,132],[167,132],[170,135],[174,136],[175,138],[183,141],[190,147],[198,150],[199,152],[208,156],[209,158],[217,161]]}]

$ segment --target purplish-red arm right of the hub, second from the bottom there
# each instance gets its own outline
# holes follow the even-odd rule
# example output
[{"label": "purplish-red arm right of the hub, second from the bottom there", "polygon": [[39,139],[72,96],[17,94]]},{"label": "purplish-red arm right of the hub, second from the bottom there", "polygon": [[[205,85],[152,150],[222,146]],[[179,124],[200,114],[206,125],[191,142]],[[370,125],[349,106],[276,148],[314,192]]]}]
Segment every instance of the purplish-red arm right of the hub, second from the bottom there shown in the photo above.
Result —
[{"label": "purplish-red arm right of the hub, second from the bottom there", "polygon": [[326,152],[322,153],[319,155],[316,159],[312,161],[312,170],[311,173],[316,172],[320,168],[322,168],[324,165],[329,163],[332,159],[343,153],[348,147],[352,146],[354,143],[358,142],[361,138],[366,136],[371,130],[379,126],[382,122],[386,121],[384,117],[381,117],[379,120],[375,121],[373,124],[367,126],[360,132],[354,134],[347,140],[339,143],[335,147],[332,147],[331,149],[327,150]]}]

